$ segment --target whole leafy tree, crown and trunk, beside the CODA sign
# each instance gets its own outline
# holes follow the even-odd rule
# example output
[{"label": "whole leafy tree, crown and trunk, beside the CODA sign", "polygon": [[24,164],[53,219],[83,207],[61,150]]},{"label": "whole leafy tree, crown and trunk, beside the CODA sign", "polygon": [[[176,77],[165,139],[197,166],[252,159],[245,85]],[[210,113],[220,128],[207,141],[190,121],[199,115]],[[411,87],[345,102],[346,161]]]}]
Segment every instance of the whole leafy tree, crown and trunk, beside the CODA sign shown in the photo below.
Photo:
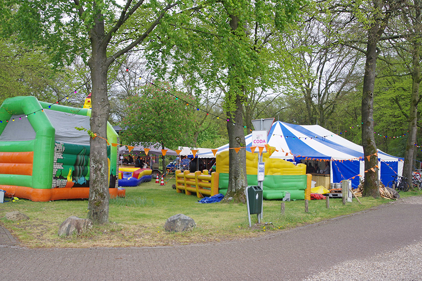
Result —
[{"label": "whole leafy tree, crown and trunk, beside the CODA sign", "polygon": [[[277,84],[280,61],[270,41],[286,22],[296,18],[303,1],[218,1],[204,3],[180,13],[183,20],[170,23],[168,30],[151,45],[153,61],[166,65],[172,58],[171,73],[191,73],[191,85],[220,89],[225,93],[229,146],[229,186],[225,200],[245,201],[246,152],[243,104],[257,88]],[[195,17],[196,20],[192,20]],[[165,47],[163,47],[165,45]],[[156,65],[160,67],[160,65]],[[164,71],[161,72],[164,75]]]}]

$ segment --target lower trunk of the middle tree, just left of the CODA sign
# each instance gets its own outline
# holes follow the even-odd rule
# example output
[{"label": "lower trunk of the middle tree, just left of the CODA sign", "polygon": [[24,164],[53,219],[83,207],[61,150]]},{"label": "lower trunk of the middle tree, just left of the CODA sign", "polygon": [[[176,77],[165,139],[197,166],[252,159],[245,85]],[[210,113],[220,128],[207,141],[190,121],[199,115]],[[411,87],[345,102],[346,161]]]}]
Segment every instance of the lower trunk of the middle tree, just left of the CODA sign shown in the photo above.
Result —
[{"label": "lower trunk of the middle tree, just left of the CODA sign", "polygon": [[229,133],[229,147],[242,147],[238,153],[229,149],[229,187],[223,201],[246,202],[246,146],[243,132],[242,98],[236,94],[236,110],[227,113],[227,132]]}]

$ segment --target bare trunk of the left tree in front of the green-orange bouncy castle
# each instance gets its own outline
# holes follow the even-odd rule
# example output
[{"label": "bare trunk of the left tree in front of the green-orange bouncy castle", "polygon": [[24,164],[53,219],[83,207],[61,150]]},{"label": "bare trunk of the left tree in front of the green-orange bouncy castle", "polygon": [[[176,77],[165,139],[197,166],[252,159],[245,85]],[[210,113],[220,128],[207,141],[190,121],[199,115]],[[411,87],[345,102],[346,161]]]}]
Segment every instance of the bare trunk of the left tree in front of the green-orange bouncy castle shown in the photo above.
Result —
[{"label": "bare trunk of the left tree in front of the green-orange bouncy castle", "polygon": [[[91,131],[98,137],[107,138],[107,118],[110,104],[107,93],[106,44],[104,22],[97,19],[90,32],[92,55],[88,61],[91,70]],[[91,138],[88,218],[94,223],[107,223],[109,215],[109,168],[107,142],[102,138]]]}]

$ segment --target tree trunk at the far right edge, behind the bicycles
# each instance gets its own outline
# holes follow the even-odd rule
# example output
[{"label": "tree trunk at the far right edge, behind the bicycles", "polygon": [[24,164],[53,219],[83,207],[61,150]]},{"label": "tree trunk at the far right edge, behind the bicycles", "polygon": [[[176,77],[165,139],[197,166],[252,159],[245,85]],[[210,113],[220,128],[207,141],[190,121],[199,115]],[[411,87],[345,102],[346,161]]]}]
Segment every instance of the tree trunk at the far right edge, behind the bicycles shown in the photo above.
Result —
[{"label": "tree trunk at the far right edge, behind the bicycles", "polygon": [[[417,35],[421,34],[420,30],[420,9],[419,1],[415,1],[416,7],[416,16],[415,16],[415,33]],[[407,182],[411,188],[413,188],[412,183],[412,170],[413,170],[413,159],[415,158],[415,143],[416,143],[416,133],[417,133],[417,102],[419,99],[419,82],[420,82],[420,53],[419,53],[420,43],[417,39],[413,39],[413,53],[412,53],[412,95],[410,100],[410,112],[409,112],[409,126],[407,134],[407,143],[405,151],[405,162],[403,165],[403,175],[407,177]]]}]

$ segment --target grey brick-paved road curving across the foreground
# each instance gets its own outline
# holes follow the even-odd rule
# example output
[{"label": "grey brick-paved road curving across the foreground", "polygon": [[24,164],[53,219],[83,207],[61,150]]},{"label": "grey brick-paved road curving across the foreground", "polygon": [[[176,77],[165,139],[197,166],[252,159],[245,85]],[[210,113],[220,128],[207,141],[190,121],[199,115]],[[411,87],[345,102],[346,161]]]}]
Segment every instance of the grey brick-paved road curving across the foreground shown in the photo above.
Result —
[{"label": "grey brick-paved road curving across the foreground", "polygon": [[[89,249],[0,246],[0,279],[305,280],[343,262],[411,249],[421,241],[422,198],[411,197],[355,215],[228,243]],[[396,279],[422,279],[403,274],[413,273],[397,272]]]}]

